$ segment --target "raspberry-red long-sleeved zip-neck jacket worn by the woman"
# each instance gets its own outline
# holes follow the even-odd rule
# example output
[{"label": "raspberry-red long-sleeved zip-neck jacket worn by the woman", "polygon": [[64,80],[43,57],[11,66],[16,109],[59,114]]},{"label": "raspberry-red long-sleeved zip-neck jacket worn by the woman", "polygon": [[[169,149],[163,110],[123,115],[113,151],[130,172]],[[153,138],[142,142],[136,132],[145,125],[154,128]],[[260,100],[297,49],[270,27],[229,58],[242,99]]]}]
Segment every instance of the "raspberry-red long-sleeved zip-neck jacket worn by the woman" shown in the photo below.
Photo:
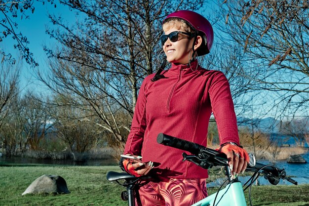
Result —
[{"label": "raspberry-red long-sleeved zip-neck jacket worn by the woman", "polygon": [[220,71],[200,66],[194,71],[196,65],[197,61],[191,67],[172,64],[163,72],[164,79],[151,82],[152,74],[141,85],[124,154],[140,155],[143,162],[154,162],[151,171],[159,176],[207,178],[208,174],[191,162],[182,162],[184,151],[158,144],[158,133],[206,146],[213,112],[221,144],[239,143],[227,78]]}]

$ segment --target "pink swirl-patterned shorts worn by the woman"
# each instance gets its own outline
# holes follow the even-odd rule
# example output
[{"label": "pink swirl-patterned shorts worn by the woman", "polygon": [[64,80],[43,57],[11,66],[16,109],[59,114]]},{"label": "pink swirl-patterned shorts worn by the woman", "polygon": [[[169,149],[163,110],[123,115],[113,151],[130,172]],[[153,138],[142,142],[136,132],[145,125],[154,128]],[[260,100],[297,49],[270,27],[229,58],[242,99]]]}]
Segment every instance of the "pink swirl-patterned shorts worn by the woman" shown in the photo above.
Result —
[{"label": "pink swirl-patterned shorts worn by the woman", "polygon": [[207,197],[206,179],[145,182],[136,192],[136,206],[191,206]]}]

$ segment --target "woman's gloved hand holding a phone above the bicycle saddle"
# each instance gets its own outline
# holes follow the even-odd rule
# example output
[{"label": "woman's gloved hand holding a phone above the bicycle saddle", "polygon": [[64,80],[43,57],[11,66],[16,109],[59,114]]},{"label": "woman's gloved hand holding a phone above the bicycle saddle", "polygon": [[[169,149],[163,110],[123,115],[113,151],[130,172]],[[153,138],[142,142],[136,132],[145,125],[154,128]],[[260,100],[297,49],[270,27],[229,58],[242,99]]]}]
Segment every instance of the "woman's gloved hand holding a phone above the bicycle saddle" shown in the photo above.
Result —
[{"label": "woman's gloved hand holding a phone above the bicycle saddle", "polygon": [[[131,154],[127,154],[127,156],[136,157],[137,159],[141,160],[141,156],[133,156]],[[146,175],[153,167],[153,162],[143,163],[138,160],[133,159],[124,159],[122,161],[123,169],[128,172],[131,175],[134,175],[136,177],[140,177],[142,175]]]}]

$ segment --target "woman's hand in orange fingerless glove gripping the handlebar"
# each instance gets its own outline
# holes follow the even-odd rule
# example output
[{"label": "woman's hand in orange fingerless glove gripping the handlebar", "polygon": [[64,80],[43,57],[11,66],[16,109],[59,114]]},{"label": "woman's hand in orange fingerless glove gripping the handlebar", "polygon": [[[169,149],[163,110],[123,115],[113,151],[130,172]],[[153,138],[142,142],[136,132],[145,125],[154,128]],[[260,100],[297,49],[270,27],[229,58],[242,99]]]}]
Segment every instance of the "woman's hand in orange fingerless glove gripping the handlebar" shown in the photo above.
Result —
[{"label": "woman's hand in orange fingerless glove gripping the handlebar", "polygon": [[235,179],[240,172],[242,174],[244,173],[249,162],[249,155],[246,150],[233,144],[226,144],[218,150],[227,155],[233,179]]}]

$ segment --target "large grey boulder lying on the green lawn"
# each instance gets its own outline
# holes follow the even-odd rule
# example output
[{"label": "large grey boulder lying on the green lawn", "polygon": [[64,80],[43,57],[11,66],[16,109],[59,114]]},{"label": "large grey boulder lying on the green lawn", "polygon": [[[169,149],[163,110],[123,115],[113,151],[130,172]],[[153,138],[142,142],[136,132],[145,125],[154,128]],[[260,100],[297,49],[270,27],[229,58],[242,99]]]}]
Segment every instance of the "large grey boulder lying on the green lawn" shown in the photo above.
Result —
[{"label": "large grey boulder lying on the green lawn", "polygon": [[61,176],[44,174],[33,181],[22,195],[39,193],[68,194],[70,191]]}]

